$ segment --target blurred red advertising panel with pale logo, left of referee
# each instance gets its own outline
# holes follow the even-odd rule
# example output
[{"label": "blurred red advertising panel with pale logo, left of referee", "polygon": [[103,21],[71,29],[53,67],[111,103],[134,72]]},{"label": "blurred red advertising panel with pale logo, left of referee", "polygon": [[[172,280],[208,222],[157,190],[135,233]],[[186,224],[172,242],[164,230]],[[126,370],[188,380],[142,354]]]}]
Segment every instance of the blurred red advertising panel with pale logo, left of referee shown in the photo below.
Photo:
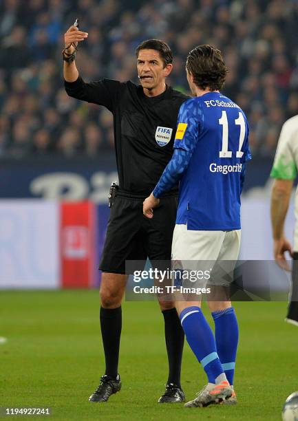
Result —
[{"label": "blurred red advertising panel with pale logo, left of referee", "polygon": [[60,261],[63,288],[89,288],[93,285],[95,214],[91,202],[61,204]]}]

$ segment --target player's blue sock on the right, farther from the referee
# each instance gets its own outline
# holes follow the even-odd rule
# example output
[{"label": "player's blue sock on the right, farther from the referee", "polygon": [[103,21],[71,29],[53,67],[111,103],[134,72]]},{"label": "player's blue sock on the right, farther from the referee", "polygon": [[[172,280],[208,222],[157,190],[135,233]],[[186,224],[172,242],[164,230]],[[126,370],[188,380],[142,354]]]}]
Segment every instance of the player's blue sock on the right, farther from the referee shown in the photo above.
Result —
[{"label": "player's blue sock on the right, farther from the referee", "polygon": [[238,323],[233,307],[212,313],[215,323],[215,343],[222,368],[233,385],[235,360],[239,339]]}]

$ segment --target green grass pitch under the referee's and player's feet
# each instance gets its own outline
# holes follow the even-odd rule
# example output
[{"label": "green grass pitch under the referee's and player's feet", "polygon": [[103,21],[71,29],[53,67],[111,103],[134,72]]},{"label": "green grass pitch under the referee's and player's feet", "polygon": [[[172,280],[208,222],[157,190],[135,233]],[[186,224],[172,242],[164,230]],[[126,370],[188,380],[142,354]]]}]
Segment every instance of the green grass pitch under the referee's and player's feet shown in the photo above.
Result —
[{"label": "green grass pitch under the referee's and player's feet", "polygon": [[[284,400],[298,390],[298,329],[284,323],[286,303],[235,303],[235,308],[237,406],[184,409],[156,403],[167,380],[167,360],[155,302],[124,303],[123,389],[95,404],[88,397],[103,374],[98,292],[0,292],[0,336],[8,338],[0,344],[0,407],[51,407],[50,417],[34,417],[50,420],[281,420]],[[205,382],[186,343],[187,399]]]}]

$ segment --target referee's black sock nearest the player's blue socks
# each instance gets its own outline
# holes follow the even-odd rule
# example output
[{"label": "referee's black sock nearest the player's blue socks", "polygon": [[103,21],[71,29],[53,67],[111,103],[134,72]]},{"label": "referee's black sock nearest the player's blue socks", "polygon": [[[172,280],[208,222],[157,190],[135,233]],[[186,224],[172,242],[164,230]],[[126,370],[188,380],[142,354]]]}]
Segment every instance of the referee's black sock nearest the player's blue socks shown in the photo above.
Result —
[{"label": "referee's black sock nearest the player's blue socks", "polygon": [[175,308],[163,310],[164,336],[166,339],[167,354],[169,360],[168,384],[180,385],[182,352],[184,345],[184,331]]}]

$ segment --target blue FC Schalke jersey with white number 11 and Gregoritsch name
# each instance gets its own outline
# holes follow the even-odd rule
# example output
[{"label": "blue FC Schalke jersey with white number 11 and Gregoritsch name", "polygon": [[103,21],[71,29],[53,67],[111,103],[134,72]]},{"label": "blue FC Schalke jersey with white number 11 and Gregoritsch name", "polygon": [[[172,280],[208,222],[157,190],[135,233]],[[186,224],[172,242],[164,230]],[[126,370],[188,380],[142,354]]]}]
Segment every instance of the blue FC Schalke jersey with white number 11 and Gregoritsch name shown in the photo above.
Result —
[{"label": "blue FC Schalke jersey with white number 11 and Gregoritsch name", "polygon": [[220,92],[187,100],[174,148],[192,153],[180,180],[176,224],[189,230],[240,229],[240,177],[251,159],[242,109]]}]

